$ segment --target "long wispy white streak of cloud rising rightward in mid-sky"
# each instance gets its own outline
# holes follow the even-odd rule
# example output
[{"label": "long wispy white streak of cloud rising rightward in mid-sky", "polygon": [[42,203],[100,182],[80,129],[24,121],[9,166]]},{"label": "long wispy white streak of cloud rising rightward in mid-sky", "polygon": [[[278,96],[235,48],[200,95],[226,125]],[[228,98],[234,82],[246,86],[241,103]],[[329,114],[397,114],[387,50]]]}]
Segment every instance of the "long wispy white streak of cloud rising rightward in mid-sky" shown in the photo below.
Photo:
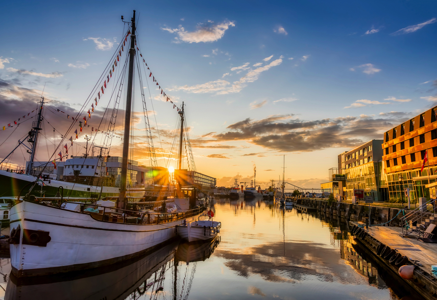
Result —
[{"label": "long wispy white streak of cloud rising rightward in mid-sky", "polygon": [[[234,81],[231,86],[229,86],[230,85],[229,81],[218,79],[215,81],[209,81],[194,86],[188,86],[188,85],[177,86],[177,87],[170,88],[169,91],[185,91],[188,93],[216,93],[217,95],[239,93],[246,86],[246,83],[257,80],[262,72],[269,70],[271,67],[278,66],[281,63],[282,63],[282,59],[280,58],[272,61],[271,63],[269,63],[264,67],[259,67],[256,68],[255,70],[250,70],[247,72],[246,75],[243,75],[243,77],[241,77],[240,80]],[[247,68],[247,66],[245,65],[246,64],[235,68],[241,68],[241,71],[243,71],[244,68]]]}]

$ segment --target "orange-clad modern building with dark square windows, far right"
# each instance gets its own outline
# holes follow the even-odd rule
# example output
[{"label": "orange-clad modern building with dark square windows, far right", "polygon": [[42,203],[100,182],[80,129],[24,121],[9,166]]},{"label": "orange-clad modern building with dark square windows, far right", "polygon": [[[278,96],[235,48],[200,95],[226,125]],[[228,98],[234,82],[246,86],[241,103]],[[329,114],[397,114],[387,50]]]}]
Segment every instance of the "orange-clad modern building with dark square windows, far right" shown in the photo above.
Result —
[{"label": "orange-clad modern building with dark square windows, far right", "polygon": [[[413,201],[436,198],[437,106],[385,132],[382,149],[390,200],[402,200],[405,188]],[[425,153],[428,162],[421,171]]]}]

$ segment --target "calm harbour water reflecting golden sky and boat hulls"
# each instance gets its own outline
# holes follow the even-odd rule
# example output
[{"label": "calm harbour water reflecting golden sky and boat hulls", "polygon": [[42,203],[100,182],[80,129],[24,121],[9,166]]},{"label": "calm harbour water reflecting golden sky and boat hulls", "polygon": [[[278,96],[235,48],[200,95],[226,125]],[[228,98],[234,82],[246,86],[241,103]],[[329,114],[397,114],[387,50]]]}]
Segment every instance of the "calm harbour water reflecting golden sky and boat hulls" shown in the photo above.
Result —
[{"label": "calm harbour water reflecting golden sky and boat hulls", "polygon": [[18,282],[8,275],[10,261],[2,259],[0,295],[7,300],[417,299],[357,253],[341,219],[262,200],[218,199],[212,209],[222,223],[218,239],[173,243],[116,270]]}]

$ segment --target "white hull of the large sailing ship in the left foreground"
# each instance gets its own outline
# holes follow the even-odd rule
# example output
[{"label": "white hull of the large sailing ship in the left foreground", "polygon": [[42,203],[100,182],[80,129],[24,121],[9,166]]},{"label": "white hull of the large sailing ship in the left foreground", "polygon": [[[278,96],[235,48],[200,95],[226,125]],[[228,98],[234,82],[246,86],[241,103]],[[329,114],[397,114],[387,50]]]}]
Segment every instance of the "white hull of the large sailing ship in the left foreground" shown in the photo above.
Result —
[{"label": "white hull of the large sailing ship in the left foreground", "polygon": [[[176,236],[174,226],[182,222],[103,222],[89,214],[28,201],[11,208],[10,220],[11,237],[14,229],[20,230],[19,242],[10,245],[12,272],[17,277],[85,270],[135,257],[170,241]],[[32,230],[40,241],[46,235],[46,246],[35,245]]]}]

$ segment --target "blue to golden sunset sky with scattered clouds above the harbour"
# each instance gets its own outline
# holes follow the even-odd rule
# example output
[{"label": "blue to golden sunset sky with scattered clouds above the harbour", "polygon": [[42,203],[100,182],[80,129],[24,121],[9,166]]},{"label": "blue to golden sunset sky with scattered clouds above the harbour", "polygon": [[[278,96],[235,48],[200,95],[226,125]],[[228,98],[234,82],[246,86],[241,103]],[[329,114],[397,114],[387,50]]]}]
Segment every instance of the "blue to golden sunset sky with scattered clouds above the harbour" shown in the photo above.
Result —
[{"label": "blue to golden sunset sky with scattered clouds above the harbour", "polygon": [[[282,178],[285,155],[286,180],[318,188],[338,154],[437,105],[435,1],[15,1],[3,3],[0,20],[0,128],[43,95],[49,124],[37,158],[62,150],[72,121],[57,109],[73,116],[91,104],[127,30],[120,16],[129,21],[133,9],[147,66],[174,104],[184,101],[196,170],[219,186],[250,182],[256,167],[267,187]],[[169,152],[179,116],[151,79],[143,75],[157,163],[177,167]],[[140,94],[137,83],[130,157],[150,165]],[[89,124],[108,115],[110,99]],[[111,156],[121,155],[123,105],[121,97]],[[0,130],[1,157],[25,137],[27,120]],[[84,145],[82,135],[69,154]],[[26,159],[16,150],[8,162]]]}]

